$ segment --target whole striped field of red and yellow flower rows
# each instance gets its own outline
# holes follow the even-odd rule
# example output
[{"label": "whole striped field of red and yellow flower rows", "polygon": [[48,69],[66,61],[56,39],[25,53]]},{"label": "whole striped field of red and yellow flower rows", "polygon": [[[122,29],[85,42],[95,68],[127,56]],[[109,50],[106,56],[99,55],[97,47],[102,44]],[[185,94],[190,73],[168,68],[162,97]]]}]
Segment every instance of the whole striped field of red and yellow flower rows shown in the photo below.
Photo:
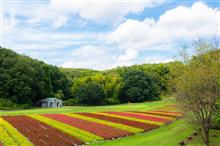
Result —
[{"label": "whole striped field of red and yellow flower rows", "polygon": [[0,146],[73,146],[125,137],[181,117],[174,109],[2,116]]}]

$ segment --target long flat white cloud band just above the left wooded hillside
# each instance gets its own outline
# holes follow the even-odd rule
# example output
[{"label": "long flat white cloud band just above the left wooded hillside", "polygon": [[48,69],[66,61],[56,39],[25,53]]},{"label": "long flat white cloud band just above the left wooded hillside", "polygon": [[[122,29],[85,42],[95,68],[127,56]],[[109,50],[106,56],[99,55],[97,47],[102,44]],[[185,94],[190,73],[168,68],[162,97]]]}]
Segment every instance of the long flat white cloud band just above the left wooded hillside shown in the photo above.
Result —
[{"label": "long flat white cloud band just above the left wooded hillside", "polygon": [[4,46],[14,50],[53,50],[70,46],[97,43],[102,33],[43,32],[33,29],[19,29],[13,35],[4,36]]}]

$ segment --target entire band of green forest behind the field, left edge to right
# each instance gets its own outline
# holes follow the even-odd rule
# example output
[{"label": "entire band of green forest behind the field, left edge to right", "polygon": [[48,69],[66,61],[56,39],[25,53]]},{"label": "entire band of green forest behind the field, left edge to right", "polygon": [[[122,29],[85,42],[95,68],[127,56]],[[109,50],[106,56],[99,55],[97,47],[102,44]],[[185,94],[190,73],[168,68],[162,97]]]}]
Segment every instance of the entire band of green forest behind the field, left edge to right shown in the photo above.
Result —
[{"label": "entire band of green forest behind the field, left edge to right", "polygon": [[106,71],[58,68],[0,49],[0,108],[29,108],[56,97],[66,105],[107,105],[159,100],[172,94],[183,64],[143,64]]}]

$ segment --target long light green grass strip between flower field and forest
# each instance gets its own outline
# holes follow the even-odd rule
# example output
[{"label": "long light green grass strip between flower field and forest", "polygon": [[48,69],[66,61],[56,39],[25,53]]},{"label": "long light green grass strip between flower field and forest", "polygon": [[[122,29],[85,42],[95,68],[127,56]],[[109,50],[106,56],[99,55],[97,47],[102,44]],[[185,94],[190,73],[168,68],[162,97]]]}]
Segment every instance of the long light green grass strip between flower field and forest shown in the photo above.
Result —
[{"label": "long light green grass strip between flower field and forest", "polygon": [[66,106],[63,108],[34,108],[27,110],[0,111],[0,115],[25,115],[45,113],[73,113],[73,112],[99,112],[99,111],[146,111],[153,110],[165,105],[174,104],[172,97],[163,97],[160,101],[143,103],[129,103],[111,106]]}]

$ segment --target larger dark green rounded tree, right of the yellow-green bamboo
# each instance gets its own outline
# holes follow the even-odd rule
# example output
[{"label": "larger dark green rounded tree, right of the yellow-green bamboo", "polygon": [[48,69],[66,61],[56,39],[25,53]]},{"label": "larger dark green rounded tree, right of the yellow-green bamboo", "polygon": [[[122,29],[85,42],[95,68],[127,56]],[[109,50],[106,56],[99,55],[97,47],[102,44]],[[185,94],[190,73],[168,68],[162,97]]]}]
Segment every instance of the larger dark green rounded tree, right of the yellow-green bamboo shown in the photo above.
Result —
[{"label": "larger dark green rounded tree, right of the yellow-green bamboo", "polygon": [[119,97],[121,102],[141,102],[158,100],[160,87],[151,75],[143,71],[131,70],[123,75],[124,88]]}]

